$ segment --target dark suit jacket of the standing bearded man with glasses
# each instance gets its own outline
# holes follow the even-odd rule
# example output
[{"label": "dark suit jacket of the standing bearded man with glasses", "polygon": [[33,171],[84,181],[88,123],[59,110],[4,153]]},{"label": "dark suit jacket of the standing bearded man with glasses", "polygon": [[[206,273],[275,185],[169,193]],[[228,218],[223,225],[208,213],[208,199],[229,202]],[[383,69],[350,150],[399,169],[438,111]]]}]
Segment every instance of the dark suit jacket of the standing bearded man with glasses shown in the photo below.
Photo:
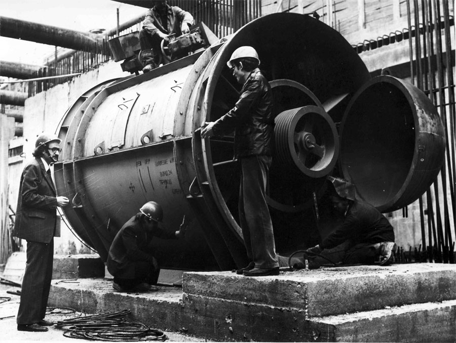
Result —
[{"label": "dark suit jacket of the standing bearded man with glasses", "polygon": [[32,242],[51,242],[54,236],[60,236],[56,208],[51,175],[36,157],[22,171],[13,235]]}]

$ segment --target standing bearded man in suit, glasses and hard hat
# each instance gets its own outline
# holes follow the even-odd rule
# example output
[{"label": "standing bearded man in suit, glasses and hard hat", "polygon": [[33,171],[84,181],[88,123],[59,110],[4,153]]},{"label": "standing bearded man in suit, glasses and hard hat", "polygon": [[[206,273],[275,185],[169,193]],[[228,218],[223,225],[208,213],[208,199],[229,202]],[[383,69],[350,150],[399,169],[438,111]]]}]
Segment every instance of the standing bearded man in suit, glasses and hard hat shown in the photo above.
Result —
[{"label": "standing bearded man in suit, glasses and hard hat", "polygon": [[19,331],[48,331],[54,323],[45,320],[54,262],[54,236],[60,236],[57,206],[68,198],[58,196],[54,163],[60,154],[60,139],[42,134],[35,142],[34,159],[25,166],[19,185],[13,235],[27,241],[27,264],[22,279],[17,314]]}]

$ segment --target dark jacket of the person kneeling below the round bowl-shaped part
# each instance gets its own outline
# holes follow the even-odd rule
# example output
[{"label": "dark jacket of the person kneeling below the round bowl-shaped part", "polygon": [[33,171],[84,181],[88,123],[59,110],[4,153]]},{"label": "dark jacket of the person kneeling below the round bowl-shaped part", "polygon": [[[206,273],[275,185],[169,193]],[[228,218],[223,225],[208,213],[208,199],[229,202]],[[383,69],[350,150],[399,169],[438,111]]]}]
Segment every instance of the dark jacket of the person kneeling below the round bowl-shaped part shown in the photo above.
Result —
[{"label": "dark jacket of the person kneeling below the round bowl-shaped part", "polygon": [[394,242],[394,230],[375,207],[354,200],[344,222],[320,246],[330,249],[346,240],[351,240],[353,244]]}]

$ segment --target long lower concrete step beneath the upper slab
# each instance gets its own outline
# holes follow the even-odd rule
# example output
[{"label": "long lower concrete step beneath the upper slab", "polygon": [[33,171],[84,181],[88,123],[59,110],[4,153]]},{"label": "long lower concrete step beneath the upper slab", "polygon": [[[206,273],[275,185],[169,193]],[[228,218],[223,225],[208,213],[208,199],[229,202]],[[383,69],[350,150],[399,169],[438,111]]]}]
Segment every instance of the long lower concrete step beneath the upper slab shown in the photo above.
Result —
[{"label": "long lower concrete step beneath the upper slab", "polygon": [[119,293],[109,280],[80,279],[53,282],[48,305],[87,314],[130,309],[129,321],[212,341],[450,342],[456,337],[456,300],[312,317],[305,309],[188,296],[176,287]]}]

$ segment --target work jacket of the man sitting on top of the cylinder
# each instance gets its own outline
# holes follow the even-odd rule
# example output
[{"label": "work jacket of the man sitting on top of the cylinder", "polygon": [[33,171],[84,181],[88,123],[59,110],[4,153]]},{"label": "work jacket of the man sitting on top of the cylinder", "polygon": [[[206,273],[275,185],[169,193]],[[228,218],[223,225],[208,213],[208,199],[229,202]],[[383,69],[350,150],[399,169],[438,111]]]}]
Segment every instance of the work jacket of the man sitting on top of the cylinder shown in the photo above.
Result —
[{"label": "work jacket of the man sitting on top of the cylinder", "polygon": [[155,10],[155,7],[148,10],[145,14],[144,21],[142,23],[142,28],[145,29],[151,35],[157,33],[157,31],[162,31],[166,34],[175,33],[176,37],[182,34],[180,27],[182,23],[187,23],[189,26],[193,25],[193,16],[182,10],[177,6],[169,6],[167,10],[167,22],[162,23],[160,14]]}]

